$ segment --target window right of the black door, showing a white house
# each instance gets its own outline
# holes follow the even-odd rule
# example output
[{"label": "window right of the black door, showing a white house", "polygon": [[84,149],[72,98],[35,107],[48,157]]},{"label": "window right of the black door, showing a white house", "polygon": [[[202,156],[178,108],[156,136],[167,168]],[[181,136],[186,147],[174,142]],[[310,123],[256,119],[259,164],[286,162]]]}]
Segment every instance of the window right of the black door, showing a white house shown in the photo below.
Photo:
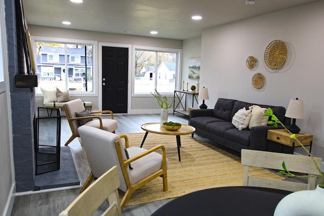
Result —
[{"label": "window right of the black door, showing a white house", "polygon": [[181,50],[161,48],[134,48],[133,96],[160,93],[173,94],[180,74]]}]

